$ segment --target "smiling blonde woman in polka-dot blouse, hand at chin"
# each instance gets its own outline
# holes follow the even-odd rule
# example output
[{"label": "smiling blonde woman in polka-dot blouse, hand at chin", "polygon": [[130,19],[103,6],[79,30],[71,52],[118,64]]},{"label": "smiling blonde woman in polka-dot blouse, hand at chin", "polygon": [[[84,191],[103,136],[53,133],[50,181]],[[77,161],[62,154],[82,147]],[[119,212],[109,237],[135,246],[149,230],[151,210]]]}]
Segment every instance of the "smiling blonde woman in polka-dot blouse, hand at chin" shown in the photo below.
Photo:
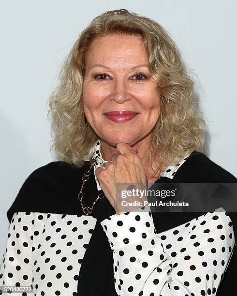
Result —
[{"label": "smiling blonde woman in polka-dot blouse, hand at chin", "polygon": [[197,151],[205,124],[193,81],[157,22],[125,9],[93,19],[49,106],[60,161],[32,172],[7,212],[0,285],[31,286],[35,296],[236,287],[234,212],[116,207],[117,183],[237,181]]}]

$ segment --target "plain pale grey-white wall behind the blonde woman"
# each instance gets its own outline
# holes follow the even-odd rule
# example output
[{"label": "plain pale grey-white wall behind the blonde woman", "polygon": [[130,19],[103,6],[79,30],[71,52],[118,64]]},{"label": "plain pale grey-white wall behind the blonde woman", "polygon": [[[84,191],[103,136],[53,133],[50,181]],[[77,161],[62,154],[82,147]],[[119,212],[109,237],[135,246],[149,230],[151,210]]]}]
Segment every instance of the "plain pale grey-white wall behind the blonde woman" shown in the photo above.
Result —
[{"label": "plain pale grey-white wall behind the blonde woman", "polygon": [[204,152],[237,176],[237,1],[2,1],[0,254],[9,227],[6,212],[20,187],[36,168],[57,160],[49,150],[47,99],[61,62],[95,16],[122,8],[156,20],[177,43],[196,74],[207,121]]}]

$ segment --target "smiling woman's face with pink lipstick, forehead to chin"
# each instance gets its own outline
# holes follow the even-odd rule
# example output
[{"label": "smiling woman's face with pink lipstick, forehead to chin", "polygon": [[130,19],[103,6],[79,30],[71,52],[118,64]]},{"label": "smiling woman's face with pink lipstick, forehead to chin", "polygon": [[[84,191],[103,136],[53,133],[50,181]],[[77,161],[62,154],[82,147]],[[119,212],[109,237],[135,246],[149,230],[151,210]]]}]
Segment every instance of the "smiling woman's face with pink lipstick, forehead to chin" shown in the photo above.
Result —
[{"label": "smiling woman's face with pink lipstick, forehead to chin", "polygon": [[[97,135],[108,144],[133,145],[148,136],[160,116],[160,95],[148,70],[142,39],[97,37],[85,58],[83,108]],[[106,115],[132,111],[135,115]]]}]

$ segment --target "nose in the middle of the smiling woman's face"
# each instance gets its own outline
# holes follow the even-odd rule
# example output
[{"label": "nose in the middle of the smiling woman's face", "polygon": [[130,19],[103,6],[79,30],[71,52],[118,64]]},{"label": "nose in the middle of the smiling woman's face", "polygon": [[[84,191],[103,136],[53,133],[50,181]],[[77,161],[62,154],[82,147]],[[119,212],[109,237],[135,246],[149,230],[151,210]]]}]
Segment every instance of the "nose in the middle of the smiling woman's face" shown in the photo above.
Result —
[{"label": "nose in the middle of the smiling woman's face", "polygon": [[115,101],[118,104],[123,104],[127,100],[131,100],[132,95],[129,93],[129,87],[124,79],[117,79],[112,86],[109,95],[110,101]]}]

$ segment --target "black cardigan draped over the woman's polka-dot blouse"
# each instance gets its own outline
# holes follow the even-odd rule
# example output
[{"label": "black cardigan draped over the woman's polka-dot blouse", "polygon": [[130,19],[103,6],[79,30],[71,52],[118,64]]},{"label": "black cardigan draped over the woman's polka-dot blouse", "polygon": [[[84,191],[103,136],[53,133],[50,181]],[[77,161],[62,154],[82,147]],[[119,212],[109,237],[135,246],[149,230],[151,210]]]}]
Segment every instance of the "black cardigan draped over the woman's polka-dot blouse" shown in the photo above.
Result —
[{"label": "black cardigan draped over the woman's polka-dot blouse", "polygon": [[[89,162],[77,168],[65,162],[51,162],[35,171],[26,179],[15,201],[7,211],[11,222],[14,212],[31,211],[58,214],[83,214],[78,200],[82,176],[89,169]],[[93,175],[92,175],[93,176]],[[193,151],[183,163],[173,179],[161,177],[157,183],[237,183],[237,178],[205,154]],[[98,196],[94,178],[89,178],[84,186],[88,204]],[[101,191],[102,192],[102,191]],[[32,199],[34,196],[34,199]],[[236,210],[236,209],[233,209]],[[80,296],[116,296],[113,278],[113,256],[107,237],[100,225],[105,218],[115,214],[115,210],[106,198],[95,204],[92,215],[97,218],[95,230],[86,250],[80,268],[78,295]],[[188,222],[205,212],[152,212],[157,233],[166,231]],[[233,222],[234,236],[237,241],[237,213],[227,212]],[[232,295],[237,291],[237,251],[234,252],[217,290],[216,296]]]}]

